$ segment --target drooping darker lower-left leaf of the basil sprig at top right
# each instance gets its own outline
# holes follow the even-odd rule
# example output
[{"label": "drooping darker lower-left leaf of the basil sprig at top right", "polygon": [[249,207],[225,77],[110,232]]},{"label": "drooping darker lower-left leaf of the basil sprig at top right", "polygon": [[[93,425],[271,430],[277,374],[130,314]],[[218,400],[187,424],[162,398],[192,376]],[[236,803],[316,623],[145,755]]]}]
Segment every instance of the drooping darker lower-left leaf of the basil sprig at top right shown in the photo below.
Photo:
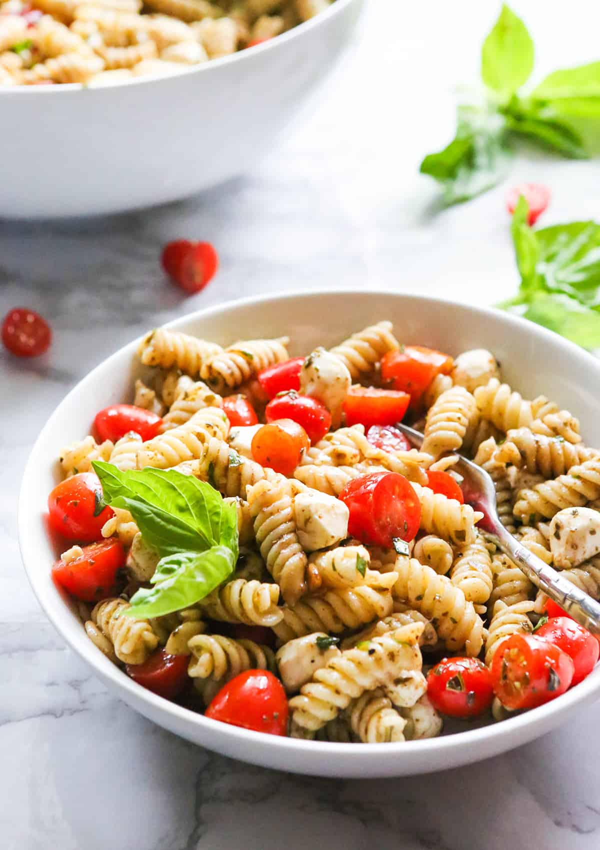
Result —
[{"label": "drooping darker lower-left leaf of the basil sprig at top right", "polygon": [[455,138],[443,150],[426,156],[420,173],[441,183],[444,202],[454,204],[499,183],[510,160],[503,117],[496,111],[462,105]]}]

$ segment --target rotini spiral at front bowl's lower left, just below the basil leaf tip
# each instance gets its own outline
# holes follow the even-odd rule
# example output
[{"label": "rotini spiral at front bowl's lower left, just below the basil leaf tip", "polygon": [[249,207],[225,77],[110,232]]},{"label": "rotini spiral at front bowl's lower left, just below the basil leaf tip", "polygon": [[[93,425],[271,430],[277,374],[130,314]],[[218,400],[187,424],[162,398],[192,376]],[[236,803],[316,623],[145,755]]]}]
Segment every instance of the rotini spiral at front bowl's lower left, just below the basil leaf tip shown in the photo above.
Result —
[{"label": "rotini spiral at front bowl's lower left, just below the basil leaf tip", "polygon": [[123,664],[143,664],[158,638],[147,620],[134,620],[125,616],[129,602],[123,599],[105,599],[94,606],[92,623],[112,643],[115,655]]}]

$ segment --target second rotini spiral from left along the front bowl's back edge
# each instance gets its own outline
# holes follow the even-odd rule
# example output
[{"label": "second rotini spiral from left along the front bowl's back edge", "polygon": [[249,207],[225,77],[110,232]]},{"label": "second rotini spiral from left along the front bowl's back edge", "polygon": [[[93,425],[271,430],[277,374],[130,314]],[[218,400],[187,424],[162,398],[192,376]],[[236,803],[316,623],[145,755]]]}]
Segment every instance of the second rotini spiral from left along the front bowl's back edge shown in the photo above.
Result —
[{"label": "second rotini spiral from left along the front bowl's back edge", "polygon": [[218,393],[239,387],[267,366],[288,360],[289,337],[249,339],[230,345],[203,364],[200,377]]}]

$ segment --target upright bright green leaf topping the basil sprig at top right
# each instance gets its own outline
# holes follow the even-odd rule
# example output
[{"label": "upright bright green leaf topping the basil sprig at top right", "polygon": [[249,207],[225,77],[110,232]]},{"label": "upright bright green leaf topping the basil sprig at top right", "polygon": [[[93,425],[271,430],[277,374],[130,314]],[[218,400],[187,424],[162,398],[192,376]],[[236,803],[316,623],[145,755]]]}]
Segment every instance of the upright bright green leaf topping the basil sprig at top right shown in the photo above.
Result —
[{"label": "upright bright green leaf topping the basil sprig at top right", "polygon": [[481,76],[488,88],[510,97],[534,70],[534,42],[520,18],[504,5],[483,42]]}]

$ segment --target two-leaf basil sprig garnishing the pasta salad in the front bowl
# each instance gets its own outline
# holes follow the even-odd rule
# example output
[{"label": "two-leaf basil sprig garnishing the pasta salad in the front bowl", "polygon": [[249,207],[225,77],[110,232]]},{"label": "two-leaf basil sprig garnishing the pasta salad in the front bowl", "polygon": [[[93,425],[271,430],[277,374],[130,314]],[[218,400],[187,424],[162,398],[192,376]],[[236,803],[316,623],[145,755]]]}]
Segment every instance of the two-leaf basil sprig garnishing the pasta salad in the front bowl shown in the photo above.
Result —
[{"label": "two-leaf basil sprig garnishing the pasta salad in the front bowl", "polygon": [[95,461],[104,501],[129,511],[161,556],[153,587],[141,587],[128,613],[157,617],[186,608],[219,587],[237,562],[237,513],[217,490],[173,469],[122,472]]}]

